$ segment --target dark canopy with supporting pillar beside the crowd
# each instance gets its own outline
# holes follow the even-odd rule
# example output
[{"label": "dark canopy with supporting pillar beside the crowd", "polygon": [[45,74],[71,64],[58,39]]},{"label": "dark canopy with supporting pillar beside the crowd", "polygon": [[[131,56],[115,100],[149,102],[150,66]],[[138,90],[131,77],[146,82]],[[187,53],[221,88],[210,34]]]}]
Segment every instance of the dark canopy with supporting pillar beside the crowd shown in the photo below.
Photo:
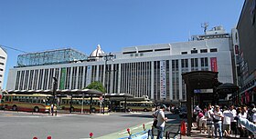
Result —
[{"label": "dark canopy with supporting pillar beside the crowd", "polygon": [[187,135],[191,135],[194,90],[214,88],[219,83],[218,74],[218,72],[211,71],[194,71],[182,74],[187,88]]}]

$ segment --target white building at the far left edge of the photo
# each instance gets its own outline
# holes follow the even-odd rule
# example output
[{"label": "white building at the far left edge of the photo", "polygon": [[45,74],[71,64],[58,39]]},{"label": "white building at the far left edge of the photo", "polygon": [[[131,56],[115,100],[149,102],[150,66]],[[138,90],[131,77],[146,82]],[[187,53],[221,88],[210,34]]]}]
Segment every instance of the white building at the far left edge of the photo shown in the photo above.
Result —
[{"label": "white building at the far left edge of the photo", "polygon": [[7,53],[2,47],[0,47],[0,89],[3,89],[6,60],[7,60]]}]

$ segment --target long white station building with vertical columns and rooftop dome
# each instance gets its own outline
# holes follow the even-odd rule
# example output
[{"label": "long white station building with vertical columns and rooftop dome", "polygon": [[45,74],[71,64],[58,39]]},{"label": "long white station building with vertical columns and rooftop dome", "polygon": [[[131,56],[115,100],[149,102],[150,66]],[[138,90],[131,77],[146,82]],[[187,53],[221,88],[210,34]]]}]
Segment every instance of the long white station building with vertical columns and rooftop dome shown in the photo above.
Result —
[{"label": "long white station building with vertical columns and rooftop dome", "polygon": [[[72,55],[60,51],[19,55],[17,66],[9,70],[6,89],[51,90],[52,77],[56,77],[59,90],[82,89],[99,81],[107,94],[133,94],[155,102],[176,103],[187,99],[182,73],[214,71],[219,72],[219,82],[235,80],[233,41],[222,26],[193,35],[187,42],[124,47],[111,55],[100,45],[88,56],[79,53],[74,57],[78,52],[72,49]],[[52,62],[48,55],[69,58]]]}]

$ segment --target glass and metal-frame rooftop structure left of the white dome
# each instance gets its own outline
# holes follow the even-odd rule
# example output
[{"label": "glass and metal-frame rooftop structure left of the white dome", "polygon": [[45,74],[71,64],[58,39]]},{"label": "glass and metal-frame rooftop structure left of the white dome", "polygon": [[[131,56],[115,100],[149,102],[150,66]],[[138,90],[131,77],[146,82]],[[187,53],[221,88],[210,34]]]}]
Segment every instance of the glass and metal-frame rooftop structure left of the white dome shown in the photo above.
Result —
[{"label": "glass and metal-frame rooftop structure left of the white dome", "polygon": [[66,64],[87,59],[87,55],[71,48],[18,55],[17,67]]}]

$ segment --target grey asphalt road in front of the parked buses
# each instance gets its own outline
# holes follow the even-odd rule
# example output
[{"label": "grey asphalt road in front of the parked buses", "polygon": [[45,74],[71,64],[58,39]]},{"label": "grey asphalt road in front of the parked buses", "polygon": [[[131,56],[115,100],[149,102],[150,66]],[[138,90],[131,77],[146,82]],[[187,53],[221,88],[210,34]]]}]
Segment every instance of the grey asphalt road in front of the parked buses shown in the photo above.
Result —
[{"label": "grey asphalt road in front of the parked buses", "polygon": [[[0,139],[81,139],[101,138],[106,134],[118,133],[127,128],[152,122],[148,113],[112,113],[101,114],[31,114],[24,112],[0,111]],[[168,117],[174,114],[167,114]],[[173,117],[176,119],[176,117]],[[169,118],[171,119],[171,118]],[[178,121],[170,120],[169,123]],[[179,122],[177,122],[179,123]],[[170,128],[170,127],[168,127]],[[173,126],[173,128],[176,128]],[[171,128],[170,128],[171,129]],[[176,129],[171,129],[176,133]]]}]

